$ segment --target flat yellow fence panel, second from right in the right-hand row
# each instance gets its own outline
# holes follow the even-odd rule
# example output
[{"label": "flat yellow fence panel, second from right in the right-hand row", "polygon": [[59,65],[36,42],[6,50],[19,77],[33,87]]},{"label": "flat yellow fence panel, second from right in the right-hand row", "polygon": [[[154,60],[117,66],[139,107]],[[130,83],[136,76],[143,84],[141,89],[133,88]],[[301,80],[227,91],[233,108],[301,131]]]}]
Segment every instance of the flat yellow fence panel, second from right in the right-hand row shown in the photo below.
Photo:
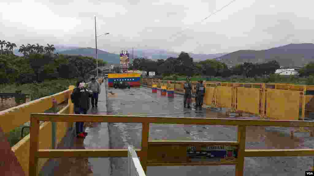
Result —
[{"label": "flat yellow fence panel, second from right in the right-hand row", "polygon": [[260,89],[237,87],[237,110],[259,114]]}]

